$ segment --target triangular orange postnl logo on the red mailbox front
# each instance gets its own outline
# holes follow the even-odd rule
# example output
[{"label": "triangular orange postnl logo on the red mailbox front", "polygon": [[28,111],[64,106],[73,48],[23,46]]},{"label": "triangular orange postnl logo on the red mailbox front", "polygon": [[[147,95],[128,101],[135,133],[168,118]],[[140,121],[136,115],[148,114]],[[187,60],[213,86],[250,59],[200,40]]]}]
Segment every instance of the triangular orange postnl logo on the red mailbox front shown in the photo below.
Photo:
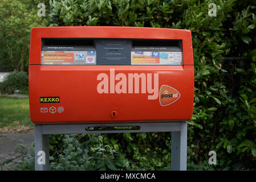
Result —
[{"label": "triangular orange postnl logo on the red mailbox front", "polygon": [[159,91],[159,102],[161,106],[173,104],[180,98],[180,92],[172,86],[162,85]]}]

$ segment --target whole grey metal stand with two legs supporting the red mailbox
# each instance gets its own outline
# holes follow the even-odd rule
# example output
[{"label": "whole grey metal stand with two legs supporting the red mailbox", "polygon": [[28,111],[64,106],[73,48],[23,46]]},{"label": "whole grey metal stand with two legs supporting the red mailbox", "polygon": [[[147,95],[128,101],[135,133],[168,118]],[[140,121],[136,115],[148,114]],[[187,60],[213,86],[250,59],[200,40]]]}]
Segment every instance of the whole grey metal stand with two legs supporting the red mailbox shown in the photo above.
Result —
[{"label": "whole grey metal stand with two legs supporting the red mailbox", "polygon": [[[138,130],[86,130],[87,127],[127,127],[139,126]],[[94,134],[94,133],[140,133],[172,132],[171,134],[171,170],[186,171],[187,158],[187,122],[157,123],[108,123],[108,124],[70,124],[70,125],[35,125],[35,170],[49,170],[50,134]],[[42,164],[42,151],[45,164]],[[39,160],[39,163],[38,163]]]}]

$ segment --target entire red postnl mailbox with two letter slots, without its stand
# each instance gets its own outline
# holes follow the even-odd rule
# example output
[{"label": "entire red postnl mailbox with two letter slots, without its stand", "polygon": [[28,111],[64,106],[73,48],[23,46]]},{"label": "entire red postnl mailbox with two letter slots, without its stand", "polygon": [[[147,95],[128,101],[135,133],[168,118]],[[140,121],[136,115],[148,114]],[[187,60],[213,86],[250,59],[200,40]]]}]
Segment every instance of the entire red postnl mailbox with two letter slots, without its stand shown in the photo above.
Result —
[{"label": "entire red postnl mailbox with two letter slots, without its stand", "polygon": [[32,28],[29,98],[37,124],[184,122],[193,111],[191,32]]}]

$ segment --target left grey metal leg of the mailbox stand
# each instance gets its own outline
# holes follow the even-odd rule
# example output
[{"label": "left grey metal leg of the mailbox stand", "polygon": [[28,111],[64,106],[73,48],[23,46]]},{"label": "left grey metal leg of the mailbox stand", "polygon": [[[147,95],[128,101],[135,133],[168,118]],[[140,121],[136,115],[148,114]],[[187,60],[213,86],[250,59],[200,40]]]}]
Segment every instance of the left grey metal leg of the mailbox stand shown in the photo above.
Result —
[{"label": "left grey metal leg of the mailbox stand", "polygon": [[35,171],[49,170],[49,139],[42,125],[35,125]]}]

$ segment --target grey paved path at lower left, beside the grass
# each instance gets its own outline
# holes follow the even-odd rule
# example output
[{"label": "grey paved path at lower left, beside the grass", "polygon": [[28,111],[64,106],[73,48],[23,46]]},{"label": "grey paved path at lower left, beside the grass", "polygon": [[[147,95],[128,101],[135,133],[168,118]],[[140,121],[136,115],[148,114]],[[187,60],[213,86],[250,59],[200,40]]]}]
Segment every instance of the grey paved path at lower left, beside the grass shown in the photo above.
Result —
[{"label": "grey paved path at lower left, beside the grass", "polygon": [[[19,143],[19,140],[23,140],[26,147],[30,147],[34,142],[34,133],[2,133],[0,134],[0,164],[9,159],[14,154],[15,147]],[[3,166],[3,170],[7,167],[14,167],[17,165],[19,159],[13,160],[9,164]],[[1,168],[0,168],[1,170]]]}]

